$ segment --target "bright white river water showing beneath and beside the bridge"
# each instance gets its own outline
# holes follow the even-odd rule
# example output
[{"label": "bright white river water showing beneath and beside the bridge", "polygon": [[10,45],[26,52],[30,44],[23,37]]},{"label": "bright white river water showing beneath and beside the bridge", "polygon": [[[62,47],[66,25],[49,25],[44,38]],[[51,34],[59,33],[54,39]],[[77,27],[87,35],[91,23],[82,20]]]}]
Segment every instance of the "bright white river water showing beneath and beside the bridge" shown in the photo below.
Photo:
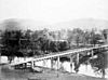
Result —
[{"label": "bright white river water showing beneath and beside the bridge", "polygon": [[[23,58],[23,57],[17,58],[17,57],[15,57],[13,63],[24,62],[24,61],[27,61],[27,59],[31,59],[31,57],[30,58]],[[45,64],[44,64],[44,62],[45,62]],[[45,59],[44,62],[40,61],[40,62],[37,62],[35,64],[37,66],[44,66],[44,67],[51,68],[51,59]],[[8,63],[8,57],[6,56],[1,56],[0,63]],[[60,65],[60,68],[63,68],[64,70],[70,72],[70,62],[67,62],[67,61],[65,61],[64,63],[60,62],[59,65]],[[56,61],[53,63],[53,68],[57,69],[57,62]],[[75,68],[75,66],[72,67],[72,72],[75,72],[73,68]],[[78,74],[92,76],[92,77],[102,77],[102,75],[99,72],[98,74],[94,72],[91,65],[80,65]],[[105,78],[108,78],[108,69],[106,69]]]}]

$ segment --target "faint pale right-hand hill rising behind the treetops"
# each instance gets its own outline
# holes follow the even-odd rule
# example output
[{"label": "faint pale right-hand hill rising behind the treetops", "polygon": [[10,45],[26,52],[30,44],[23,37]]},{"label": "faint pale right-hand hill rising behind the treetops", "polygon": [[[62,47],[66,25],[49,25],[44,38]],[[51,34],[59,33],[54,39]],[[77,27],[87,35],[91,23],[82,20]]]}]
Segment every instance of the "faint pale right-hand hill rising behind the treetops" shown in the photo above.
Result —
[{"label": "faint pale right-hand hill rising behind the treetops", "polygon": [[[56,28],[55,28],[56,27]],[[93,18],[82,18],[82,19],[73,19],[69,22],[57,23],[51,25],[53,29],[73,29],[73,28],[81,28],[81,29],[108,29],[108,21],[105,19],[93,19]]]}]

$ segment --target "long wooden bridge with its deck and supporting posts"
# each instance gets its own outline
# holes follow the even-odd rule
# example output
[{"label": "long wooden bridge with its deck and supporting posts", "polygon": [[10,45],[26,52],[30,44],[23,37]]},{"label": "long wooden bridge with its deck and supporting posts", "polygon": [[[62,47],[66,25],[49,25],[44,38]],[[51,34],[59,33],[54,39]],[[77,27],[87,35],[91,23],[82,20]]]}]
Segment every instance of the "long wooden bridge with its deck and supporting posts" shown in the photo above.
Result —
[{"label": "long wooden bridge with its deck and supporting posts", "polygon": [[108,50],[108,44],[106,45],[99,45],[99,46],[93,46],[93,48],[83,48],[83,49],[75,49],[75,50],[68,50],[68,51],[64,51],[64,52],[57,52],[57,53],[51,53],[48,55],[43,55],[43,56],[38,56],[38,57],[32,57],[31,59],[28,61],[24,61],[24,62],[18,62],[18,63],[12,63],[10,64],[11,66],[17,66],[21,64],[27,64],[27,63],[31,63],[31,68],[35,68],[35,63],[38,61],[44,61],[44,59],[51,59],[51,68],[53,68],[53,58],[56,57],[57,58],[57,69],[59,69],[59,57],[64,56],[64,55],[68,55],[70,57],[70,68],[72,71],[72,61],[73,61],[73,55],[77,55],[77,64],[79,64],[79,54],[83,54],[83,55],[92,55],[94,56],[94,51],[107,51]]}]

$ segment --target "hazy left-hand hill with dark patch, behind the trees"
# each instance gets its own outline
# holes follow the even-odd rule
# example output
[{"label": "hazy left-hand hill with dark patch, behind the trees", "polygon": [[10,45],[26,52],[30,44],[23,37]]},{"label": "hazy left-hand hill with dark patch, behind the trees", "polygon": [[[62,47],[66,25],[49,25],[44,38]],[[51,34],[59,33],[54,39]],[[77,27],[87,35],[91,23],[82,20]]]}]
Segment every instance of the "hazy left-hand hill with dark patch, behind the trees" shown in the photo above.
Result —
[{"label": "hazy left-hand hill with dark patch, behind the trees", "polygon": [[0,22],[0,29],[43,29],[43,26],[48,25],[45,22],[41,21],[32,21],[32,19],[17,19],[17,18],[9,18]]}]

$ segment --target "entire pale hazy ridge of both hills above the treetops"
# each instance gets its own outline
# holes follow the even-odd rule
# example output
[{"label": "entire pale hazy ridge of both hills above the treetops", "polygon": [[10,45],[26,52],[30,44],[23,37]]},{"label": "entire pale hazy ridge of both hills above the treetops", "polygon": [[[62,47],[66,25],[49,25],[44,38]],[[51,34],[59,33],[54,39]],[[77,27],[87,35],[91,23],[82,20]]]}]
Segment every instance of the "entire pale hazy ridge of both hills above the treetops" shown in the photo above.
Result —
[{"label": "entire pale hazy ridge of both hills above the treetops", "polygon": [[[10,25],[9,25],[10,24]],[[81,18],[81,19],[72,19],[69,22],[62,22],[57,24],[48,24],[45,22],[38,22],[32,19],[17,19],[17,18],[9,18],[4,19],[0,23],[0,29],[31,29],[39,30],[43,28],[48,28],[50,30],[59,30],[59,29],[108,29],[108,21],[105,19],[94,19],[94,18]]]}]

